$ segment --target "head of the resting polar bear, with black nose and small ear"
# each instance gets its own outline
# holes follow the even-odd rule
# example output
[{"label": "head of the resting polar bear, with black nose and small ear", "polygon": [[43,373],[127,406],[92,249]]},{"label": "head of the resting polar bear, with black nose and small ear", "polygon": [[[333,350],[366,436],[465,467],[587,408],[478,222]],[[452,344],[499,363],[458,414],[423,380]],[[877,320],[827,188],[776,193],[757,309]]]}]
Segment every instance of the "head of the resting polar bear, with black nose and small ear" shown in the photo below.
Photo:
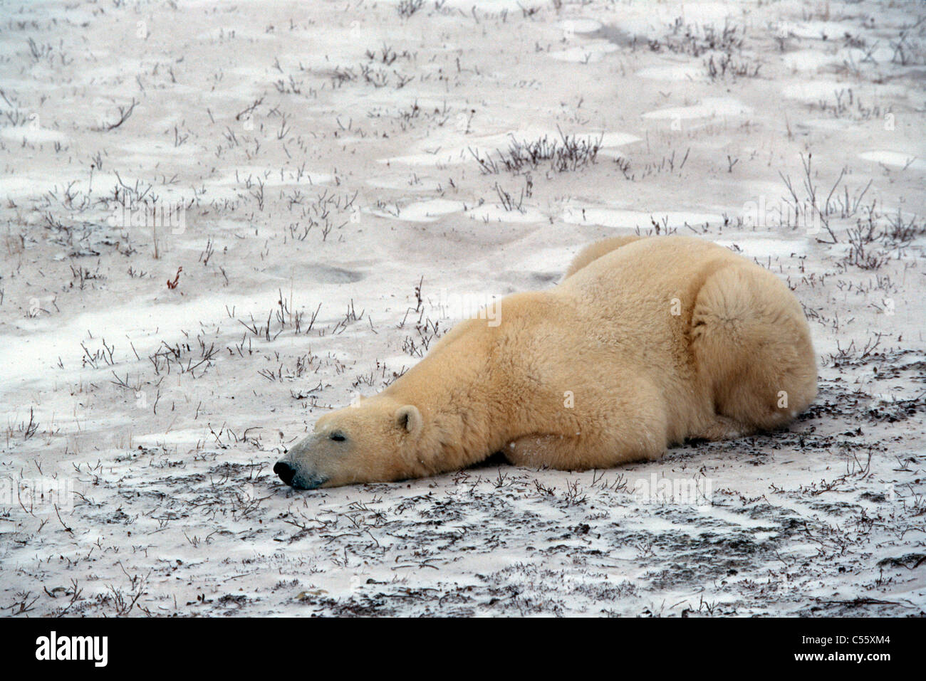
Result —
[{"label": "head of the resting polar bear, with black nose and small ear", "polygon": [[418,407],[380,394],[321,416],[273,472],[296,489],[404,479],[416,467],[423,428]]}]

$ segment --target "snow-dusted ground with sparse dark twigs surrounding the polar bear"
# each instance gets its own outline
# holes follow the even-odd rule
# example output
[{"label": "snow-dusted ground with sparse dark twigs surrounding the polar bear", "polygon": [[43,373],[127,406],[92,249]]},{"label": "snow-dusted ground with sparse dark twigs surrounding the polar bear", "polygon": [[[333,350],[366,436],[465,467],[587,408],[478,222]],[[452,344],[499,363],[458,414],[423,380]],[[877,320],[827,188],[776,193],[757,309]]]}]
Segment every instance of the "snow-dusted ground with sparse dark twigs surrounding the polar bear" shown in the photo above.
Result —
[{"label": "snow-dusted ground with sparse dark twigs surrounding the polar bear", "polygon": [[[3,613],[922,614],[923,14],[3,4]],[[468,302],[633,230],[789,282],[821,378],[788,431],[270,472]]]}]

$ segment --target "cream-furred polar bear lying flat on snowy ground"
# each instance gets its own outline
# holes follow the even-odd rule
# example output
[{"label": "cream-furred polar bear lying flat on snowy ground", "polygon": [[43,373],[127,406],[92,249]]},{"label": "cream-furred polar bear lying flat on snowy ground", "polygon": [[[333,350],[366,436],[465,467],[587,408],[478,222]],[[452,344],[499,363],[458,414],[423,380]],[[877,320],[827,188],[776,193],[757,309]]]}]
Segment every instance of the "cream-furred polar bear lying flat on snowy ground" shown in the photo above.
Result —
[{"label": "cream-furred polar bear lying flat on snowy ground", "polygon": [[556,287],[502,299],[494,320],[460,322],[381,393],[321,416],[274,472],[315,489],[433,476],[494,452],[610,468],[782,427],[817,394],[794,294],[694,237],[594,243]]}]

